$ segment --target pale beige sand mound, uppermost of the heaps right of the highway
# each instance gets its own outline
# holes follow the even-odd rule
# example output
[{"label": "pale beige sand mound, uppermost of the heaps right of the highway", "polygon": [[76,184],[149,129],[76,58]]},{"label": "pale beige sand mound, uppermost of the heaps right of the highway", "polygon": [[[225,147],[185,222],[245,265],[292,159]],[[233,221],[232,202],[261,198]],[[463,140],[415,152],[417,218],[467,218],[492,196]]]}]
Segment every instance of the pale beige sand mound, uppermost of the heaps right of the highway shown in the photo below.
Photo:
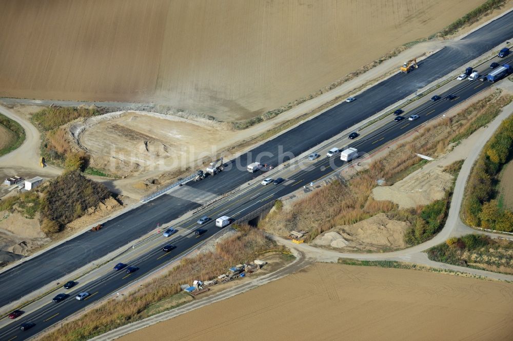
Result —
[{"label": "pale beige sand mound, uppermost of the heaps right of the highway", "polygon": [[378,186],[372,190],[376,200],[390,200],[400,208],[427,205],[445,196],[452,183],[452,175],[440,168],[420,169],[392,186]]}]

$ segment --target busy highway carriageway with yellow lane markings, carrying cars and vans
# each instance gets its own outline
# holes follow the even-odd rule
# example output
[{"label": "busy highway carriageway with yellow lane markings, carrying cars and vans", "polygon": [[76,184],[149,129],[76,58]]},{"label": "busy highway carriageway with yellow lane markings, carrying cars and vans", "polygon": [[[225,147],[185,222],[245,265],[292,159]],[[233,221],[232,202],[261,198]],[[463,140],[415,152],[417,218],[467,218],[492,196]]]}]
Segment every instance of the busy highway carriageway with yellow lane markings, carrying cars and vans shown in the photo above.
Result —
[{"label": "busy highway carriageway with yellow lane markings, carrying cars and vans", "polygon": [[[513,56],[509,56],[508,58],[504,58],[502,61],[507,62],[512,59]],[[486,74],[489,71],[489,69],[483,69],[483,74]],[[393,116],[390,115],[389,123],[385,124],[376,132],[373,132],[367,136],[361,136],[359,140],[353,141],[349,145],[352,147],[356,147],[359,151],[361,151],[361,157],[363,157],[365,156],[365,154],[371,153],[372,151],[379,149],[389,141],[396,139],[411,130],[416,129],[419,125],[425,123],[426,121],[439,117],[452,106],[487,89],[491,85],[492,84],[487,81],[461,81],[455,87],[451,88],[449,91],[440,94],[442,97],[445,97],[448,94],[456,95],[457,97],[455,99],[441,99],[436,102],[427,101],[420,104],[419,106],[417,106],[416,109],[411,110],[408,113],[405,113],[405,116],[413,114],[420,116],[419,119],[414,121],[403,120],[401,122],[394,122],[392,121]],[[337,146],[342,147],[342,145]],[[25,339],[35,335],[38,332],[41,332],[42,330],[55,324],[61,319],[70,316],[76,313],[77,311],[80,311],[85,306],[92,304],[97,300],[103,299],[108,295],[114,294],[116,291],[129,285],[137,279],[140,279],[142,276],[148,274],[149,272],[158,269],[171,261],[183,257],[183,255],[187,254],[190,250],[197,247],[199,243],[210,238],[220,230],[218,227],[214,226],[215,218],[220,217],[222,215],[228,215],[235,219],[241,218],[247,213],[253,211],[254,209],[268,202],[272,202],[277,198],[283,197],[305,185],[308,185],[310,182],[315,182],[320,178],[326,177],[330,173],[336,172],[344,165],[346,165],[346,163],[340,160],[339,155],[336,155],[331,158],[322,155],[319,159],[314,161],[304,160],[302,162],[301,169],[297,171],[293,171],[287,168],[281,171],[280,176],[284,177],[285,181],[280,185],[269,184],[263,186],[260,184],[255,184],[253,186],[250,186],[245,191],[242,191],[239,195],[233,198],[228,198],[228,200],[220,201],[219,204],[213,205],[212,207],[209,207],[203,211],[198,212],[197,214],[193,215],[190,219],[187,219],[185,222],[183,222],[180,226],[177,226],[179,229],[186,231],[185,236],[178,236],[169,240],[161,237],[160,235],[157,235],[154,238],[157,240],[161,240],[161,242],[158,243],[157,246],[154,246],[152,244],[150,247],[141,247],[141,249],[134,250],[130,254],[130,260],[127,263],[128,265],[139,267],[139,270],[137,270],[136,272],[132,274],[127,274],[125,271],[112,270],[110,273],[101,276],[100,278],[92,281],[91,283],[88,283],[85,287],[82,287],[80,289],[71,289],[68,292],[66,292],[66,290],[64,289],[58,290],[55,292],[55,294],[59,292],[66,292],[70,294],[68,299],[61,303],[49,302],[44,307],[32,313],[22,315],[21,317],[16,319],[16,321],[0,330],[0,339]],[[248,172],[245,173],[249,174],[251,177],[261,175],[260,173],[257,173],[255,175],[252,175]],[[214,180],[216,177],[221,178],[222,174],[229,174],[229,172],[222,172],[221,174],[216,175],[213,178],[207,178],[206,180],[200,181],[198,182],[198,184],[207,183],[208,181]],[[152,210],[159,208],[160,204],[154,204],[154,202],[158,203],[161,200],[166,202],[174,199],[175,198],[170,195],[164,195],[163,197],[160,197],[150,202],[150,205],[148,206],[141,206],[139,209],[142,211],[140,211],[139,214],[143,217],[151,216],[149,212],[155,212],[156,214],[159,211]],[[197,206],[199,205],[192,205],[191,207]],[[182,209],[186,207],[188,206],[182,206]],[[202,225],[202,227],[207,229],[207,232],[200,237],[196,237],[193,233],[194,229],[199,227],[198,224],[196,224],[196,220],[205,215],[211,217],[212,220]],[[120,218],[122,217],[123,216],[121,216]],[[123,226],[124,223],[127,223],[127,221],[123,219],[121,219],[119,222],[120,226]],[[153,228],[154,225],[152,225],[151,227]],[[102,233],[105,233],[104,231],[106,230],[107,229],[102,229],[98,232],[91,232],[90,234],[92,236],[102,236]],[[86,235],[88,235],[88,233],[86,233]],[[168,253],[163,252],[161,249],[162,246],[169,243],[175,245],[176,249]],[[86,256],[89,257],[90,253],[87,252],[91,251],[88,250],[87,247],[84,247],[80,249],[78,252],[86,252]],[[85,301],[75,300],[74,296],[78,292],[82,291],[89,292],[91,296],[88,297],[88,299],[86,299]],[[36,325],[28,331],[22,332],[21,330],[19,330],[19,325],[27,321],[34,322]]]}]

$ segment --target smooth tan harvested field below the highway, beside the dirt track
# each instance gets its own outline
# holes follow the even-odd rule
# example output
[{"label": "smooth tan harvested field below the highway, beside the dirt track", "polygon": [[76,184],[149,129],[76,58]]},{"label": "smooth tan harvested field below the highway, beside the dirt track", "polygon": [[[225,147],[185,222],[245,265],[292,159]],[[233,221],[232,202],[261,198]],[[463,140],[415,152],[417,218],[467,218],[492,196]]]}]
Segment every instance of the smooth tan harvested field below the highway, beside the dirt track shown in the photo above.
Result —
[{"label": "smooth tan harvested field below the highway, beside the dirt track", "polygon": [[[510,339],[513,285],[446,274],[314,264],[120,340]],[[222,312],[222,313],[220,313]],[[208,316],[208,318],[205,318]],[[201,321],[201,323],[195,323]],[[424,337],[423,337],[424,336]]]}]

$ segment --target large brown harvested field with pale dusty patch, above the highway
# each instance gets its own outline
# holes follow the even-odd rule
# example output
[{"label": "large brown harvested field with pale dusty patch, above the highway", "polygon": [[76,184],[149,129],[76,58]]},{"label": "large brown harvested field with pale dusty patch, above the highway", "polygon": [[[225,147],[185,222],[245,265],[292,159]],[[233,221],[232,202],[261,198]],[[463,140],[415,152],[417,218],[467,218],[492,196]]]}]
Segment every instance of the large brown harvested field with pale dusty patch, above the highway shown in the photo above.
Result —
[{"label": "large brown harvested field with pale dusty patch, above the highway", "polygon": [[0,0],[0,96],[153,101],[242,120],[482,2]]}]

